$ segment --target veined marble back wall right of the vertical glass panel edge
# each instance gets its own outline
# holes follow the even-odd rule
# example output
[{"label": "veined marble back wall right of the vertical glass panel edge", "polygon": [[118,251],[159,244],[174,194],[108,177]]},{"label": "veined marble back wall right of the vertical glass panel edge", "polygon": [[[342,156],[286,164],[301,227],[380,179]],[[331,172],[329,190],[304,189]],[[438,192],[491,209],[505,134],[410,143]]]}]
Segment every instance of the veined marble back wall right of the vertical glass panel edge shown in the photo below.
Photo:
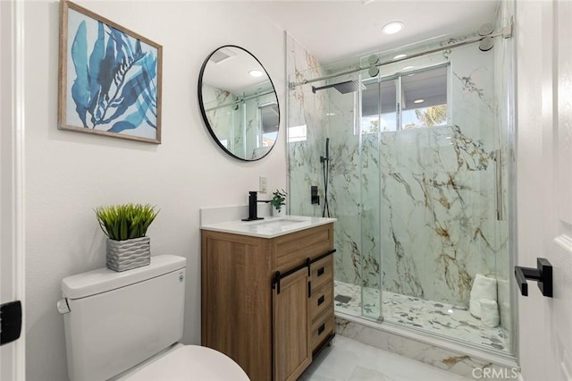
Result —
[{"label": "veined marble back wall right of the vertical glass panel edge", "polygon": [[383,289],[467,306],[475,274],[496,275],[493,54],[446,51],[451,123],[382,134]]}]

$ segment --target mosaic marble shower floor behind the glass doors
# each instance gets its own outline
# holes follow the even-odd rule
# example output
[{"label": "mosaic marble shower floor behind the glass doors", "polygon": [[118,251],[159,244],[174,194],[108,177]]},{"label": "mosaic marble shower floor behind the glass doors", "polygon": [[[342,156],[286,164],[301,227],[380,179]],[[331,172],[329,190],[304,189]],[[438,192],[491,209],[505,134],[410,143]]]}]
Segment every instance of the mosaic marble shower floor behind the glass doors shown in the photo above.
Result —
[{"label": "mosaic marble shower floor behind the glass doors", "polygon": [[[355,284],[334,281],[334,308],[351,316],[362,316],[362,296]],[[364,315],[379,318],[379,290],[365,288]],[[474,318],[467,308],[425,301],[394,292],[383,292],[383,320],[433,334],[453,336],[467,343],[475,343],[497,351],[506,351],[505,334],[501,327],[489,328]]]}]

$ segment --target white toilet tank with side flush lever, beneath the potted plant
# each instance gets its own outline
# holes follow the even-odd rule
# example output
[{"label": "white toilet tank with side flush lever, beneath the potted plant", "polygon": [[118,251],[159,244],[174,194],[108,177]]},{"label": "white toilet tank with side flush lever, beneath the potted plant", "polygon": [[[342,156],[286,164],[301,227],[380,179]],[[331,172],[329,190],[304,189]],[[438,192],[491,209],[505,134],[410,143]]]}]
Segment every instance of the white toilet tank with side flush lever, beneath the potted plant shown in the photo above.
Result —
[{"label": "white toilet tank with side flush lever, beneath the potted plant", "polygon": [[100,268],[63,279],[71,381],[114,377],[181,339],[185,262],[163,255],[121,273]]}]

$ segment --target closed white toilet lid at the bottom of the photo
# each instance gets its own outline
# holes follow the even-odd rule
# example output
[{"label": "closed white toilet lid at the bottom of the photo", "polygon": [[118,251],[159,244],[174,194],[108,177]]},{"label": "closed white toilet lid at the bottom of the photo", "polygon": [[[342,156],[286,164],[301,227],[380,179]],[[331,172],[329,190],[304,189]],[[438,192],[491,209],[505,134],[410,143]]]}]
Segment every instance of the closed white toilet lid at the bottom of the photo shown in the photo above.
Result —
[{"label": "closed white toilet lid at the bottom of the photo", "polygon": [[130,381],[249,381],[244,370],[230,357],[220,351],[198,345],[181,345],[122,379]]}]

